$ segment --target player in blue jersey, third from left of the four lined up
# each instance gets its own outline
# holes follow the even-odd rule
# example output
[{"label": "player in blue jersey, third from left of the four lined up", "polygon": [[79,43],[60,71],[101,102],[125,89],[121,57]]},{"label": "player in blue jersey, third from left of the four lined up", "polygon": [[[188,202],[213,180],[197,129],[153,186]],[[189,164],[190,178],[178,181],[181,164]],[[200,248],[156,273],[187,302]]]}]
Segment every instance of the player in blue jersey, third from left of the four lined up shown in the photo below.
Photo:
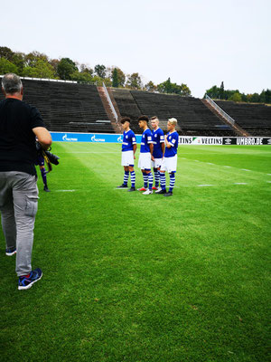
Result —
[{"label": "player in blue jersey, third from left of the four lined up", "polygon": [[159,119],[154,116],[151,118],[151,125],[153,129],[153,143],[154,143],[154,153],[152,156],[152,167],[154,168],[154,180],[155,186],[153,190],[161,190],[159,188],[160,181],[160,167],[162,165],[162,160],[164,157],[164,132],[159,128]]}]

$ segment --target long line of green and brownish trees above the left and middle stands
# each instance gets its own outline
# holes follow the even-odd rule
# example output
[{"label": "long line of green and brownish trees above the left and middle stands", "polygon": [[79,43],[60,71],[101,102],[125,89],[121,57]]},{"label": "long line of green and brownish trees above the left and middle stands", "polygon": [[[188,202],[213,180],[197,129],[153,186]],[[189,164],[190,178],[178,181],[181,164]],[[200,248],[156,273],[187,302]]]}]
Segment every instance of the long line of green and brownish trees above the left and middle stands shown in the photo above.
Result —
[{"label": "long line of green and brownish trees above the left and middle stands", "polygon": [[125,74],[118,67],[97,64],[94,68],[70,58],[50,59],[42,52],[13,52],[6,46],[0,47],[0,74],[14,72],[21,77],[60,79],[65,81],[90,82],[107,87],[149,90],[161,93],[191,95],[186,84],[173,83],[170,78],[160,84],[149,81],[144,84],[138,72]]}]

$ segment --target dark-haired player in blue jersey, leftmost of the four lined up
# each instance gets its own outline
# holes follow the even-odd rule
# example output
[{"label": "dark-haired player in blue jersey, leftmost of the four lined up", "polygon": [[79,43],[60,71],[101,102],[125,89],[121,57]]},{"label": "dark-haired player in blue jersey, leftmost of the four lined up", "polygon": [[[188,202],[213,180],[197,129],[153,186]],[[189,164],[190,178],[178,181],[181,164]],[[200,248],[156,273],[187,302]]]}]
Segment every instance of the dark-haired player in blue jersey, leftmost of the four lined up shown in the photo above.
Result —
[{"label": "dark-haired player in blue jersey, leftmost of the four lined up", "polygon": [[135,151],[136,151],[136,139],[135,133],[130,129],[131,119],[129,117],[123,117],[121,120],[123,132],[123,141],[122,141],[122,152],[121,152],[121,165],[124,167],[125,175],[123,184],[117,186],[117,188],[127,188],[129,173],[131,174],[131,188],[128,191],[135,191],[135,170],[134,170],[134,160],[135,160]]}]

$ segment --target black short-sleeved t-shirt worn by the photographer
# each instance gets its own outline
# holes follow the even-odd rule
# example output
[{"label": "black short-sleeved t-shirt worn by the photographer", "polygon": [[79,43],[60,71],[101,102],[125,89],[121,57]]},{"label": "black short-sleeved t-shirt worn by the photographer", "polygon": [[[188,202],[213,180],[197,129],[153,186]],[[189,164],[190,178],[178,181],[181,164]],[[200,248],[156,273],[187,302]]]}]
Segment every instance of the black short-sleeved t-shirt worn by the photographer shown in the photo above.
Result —
[{"label": "black short-sleeved t-shirt worn by the photographer", "polygon": [[36,108],[14,98],[0,101],[0,172],[36,175],[35,127],[45,128]]}]

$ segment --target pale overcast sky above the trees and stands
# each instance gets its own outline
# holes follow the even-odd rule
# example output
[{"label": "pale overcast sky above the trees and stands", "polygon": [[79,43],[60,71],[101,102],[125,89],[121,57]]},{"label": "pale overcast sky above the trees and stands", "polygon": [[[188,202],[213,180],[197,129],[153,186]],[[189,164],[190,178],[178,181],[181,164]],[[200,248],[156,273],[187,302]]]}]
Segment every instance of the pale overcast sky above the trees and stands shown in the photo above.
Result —
[{"label": "pale overcast sky above the trees and stands", "polygon": [[118,66],[155,84],[271,89],[271,0],[14,0],[1,4],[1,46]]}]

